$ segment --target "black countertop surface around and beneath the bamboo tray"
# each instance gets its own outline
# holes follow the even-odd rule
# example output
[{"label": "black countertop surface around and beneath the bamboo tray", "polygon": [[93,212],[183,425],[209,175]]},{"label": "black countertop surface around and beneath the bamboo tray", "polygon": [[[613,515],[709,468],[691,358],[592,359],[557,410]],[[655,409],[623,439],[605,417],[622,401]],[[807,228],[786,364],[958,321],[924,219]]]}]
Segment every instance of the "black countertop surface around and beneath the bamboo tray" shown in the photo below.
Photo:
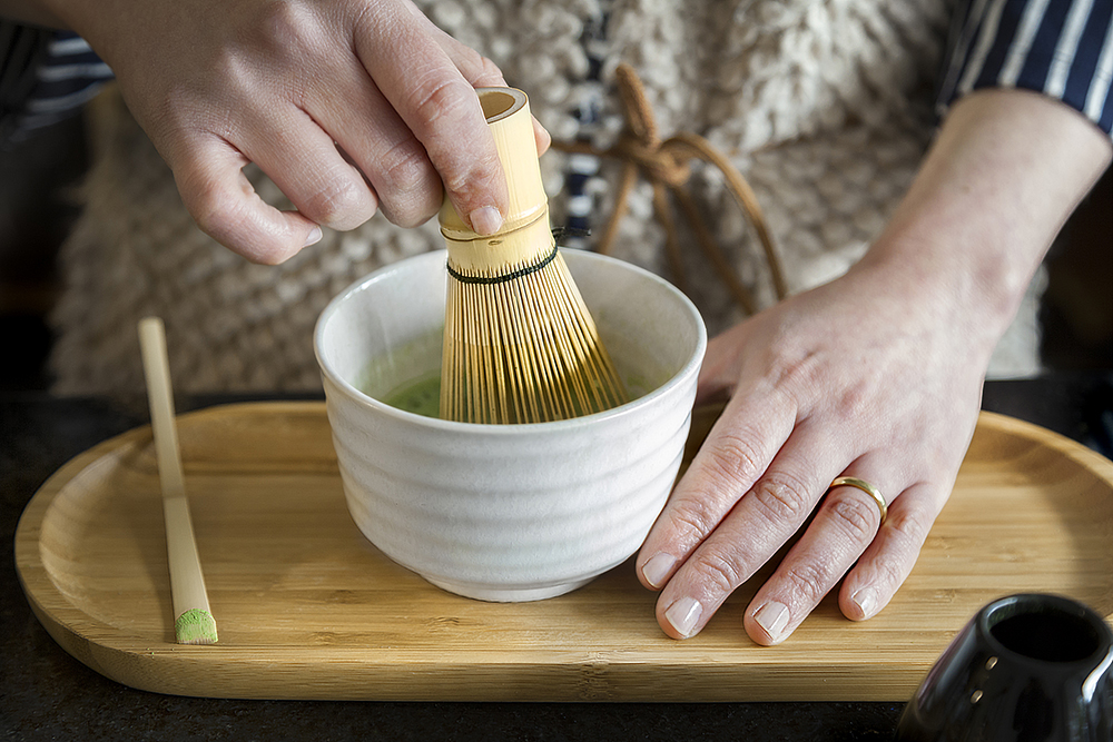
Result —
[{"label": "black countertop surface around and beneath the bamboo tray", "polygon": [[[274,398],[274,397],[269,397]],[[285,397],[288,398],[288,397]],[[237,397],[237,400],[243,397]],[[232,397],[178,400],[179,412]],[[1113,372],[992,382],[983,407],[1113,454]],[[889,740],[902,703],[238,701],[137,691],[67,654],[16,574],[20,513],[63,463],[148,421],[142,400],[0,393],[0,733],[4,740]]]}]

